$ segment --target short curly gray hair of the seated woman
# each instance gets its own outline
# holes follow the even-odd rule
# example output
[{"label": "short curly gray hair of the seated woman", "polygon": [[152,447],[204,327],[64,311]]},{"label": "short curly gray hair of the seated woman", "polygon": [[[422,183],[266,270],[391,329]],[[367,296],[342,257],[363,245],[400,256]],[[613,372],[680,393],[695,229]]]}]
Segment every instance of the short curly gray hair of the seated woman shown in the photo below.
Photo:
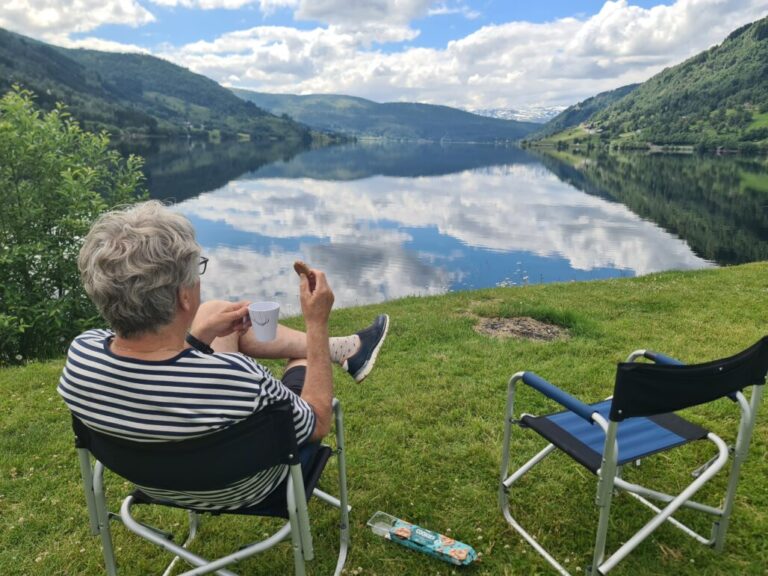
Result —
[{"label": "short curly gray hair of the seated woman", "polygon": [[85,291],[112,329],[131,338],[176,314],[179,288],[199,278],[192,224],[151,200],[102,214],[77,261]]}]

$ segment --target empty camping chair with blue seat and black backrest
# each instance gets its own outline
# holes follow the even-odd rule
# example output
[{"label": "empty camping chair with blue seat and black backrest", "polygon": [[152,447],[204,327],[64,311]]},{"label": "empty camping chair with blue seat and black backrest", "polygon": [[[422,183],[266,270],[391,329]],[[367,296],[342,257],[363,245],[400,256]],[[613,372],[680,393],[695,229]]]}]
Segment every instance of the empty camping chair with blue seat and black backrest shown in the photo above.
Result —
[{"label": "empty camping chair with blue seat and black backrest", "polygon": [[[654,362],[635,362],[644,357]],[[568,571],[529,534],[512,516],[510,489],[549,454],[562,450],[597,476],[596,504],[599,509],[597,534],[589,574],[606,574],[665,521],[680,528],[702,544],[721,551],[733,509],[739,470],[746,458],[755,414],[760,404],[768,371],[768,337],[752,347],[721,360],[705,364],[681,362],[647,350],[630,354],[616,370],[613,398],[596,404],[584,404],[533,372],[518,372],[509,381],[504,425],[499,503],[507,522],[543,556],[560,574]],[[514,396],[518,382],[530,386],[565,408],[547,416],[523,414],[514,418]],[[748,402],[742,392],[753,386]],[[691,497],[726,464],[729,447],[716,434],[684,420],[673,412],[728,397],[741,409],[733,463],[725,498],[720,507],[700,504]],[[512,425],[518,424],[543,436],[550,444],[508,475]],[[692,440],[710,440],[717,454],[697,469],[691,482],[680,494],[670,495],[621,477],[621,467],[651,454],[679,447]],[[605,557],[611,499],[614,491],[625,491],[655,512],[637,533],[627,538],[608,558]],[[657,506],[651,500],[660,502]],[[709,538],[672,517],[681,507],[714,517]]]}]

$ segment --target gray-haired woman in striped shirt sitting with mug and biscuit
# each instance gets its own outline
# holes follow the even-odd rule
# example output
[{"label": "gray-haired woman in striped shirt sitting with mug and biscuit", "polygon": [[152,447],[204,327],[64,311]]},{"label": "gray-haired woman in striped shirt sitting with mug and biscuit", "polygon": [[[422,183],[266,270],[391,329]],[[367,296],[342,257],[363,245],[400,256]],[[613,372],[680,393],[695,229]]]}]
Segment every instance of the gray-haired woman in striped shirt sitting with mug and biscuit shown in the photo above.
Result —
[{"label": "gray-haired woman in striped shirt sitting with mug and biscuit", "polygon": [[[91,228],[78,266],[88,296],[111,330],[72,342],[58,391],[86,425],[137,441],[183,440],[230,426],[288,398],[303,452],[331,426],[331,362],[358,382],[370,372],[389,318],[351,336],[329,338],[333,292],[312,270],[300,278],[306,333],[278,327],[259,342],[248,302],[200,303],[200,255],[191,223],[161,203],[103,215]],[[281,380],[253,357],[288,360]],[[287,475],[268,470],[215,492],[150,495],[210,509],[264,500]]]}]

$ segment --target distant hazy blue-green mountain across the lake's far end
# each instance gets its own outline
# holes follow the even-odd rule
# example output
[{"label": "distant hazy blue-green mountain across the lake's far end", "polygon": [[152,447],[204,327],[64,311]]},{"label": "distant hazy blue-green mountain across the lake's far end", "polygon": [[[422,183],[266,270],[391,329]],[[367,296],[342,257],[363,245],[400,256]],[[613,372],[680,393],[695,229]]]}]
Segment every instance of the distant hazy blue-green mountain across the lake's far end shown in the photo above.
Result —
[{"label": "distant hazy blue-green mountain across the lake's far end", "polygon": [[449,142],[514,141],[539,127],[532,122],[498,120],[448,106],[390,102],[334,94],[296,96],[234,89],[239,97],[273,114],[316,130],[356,137]]}]

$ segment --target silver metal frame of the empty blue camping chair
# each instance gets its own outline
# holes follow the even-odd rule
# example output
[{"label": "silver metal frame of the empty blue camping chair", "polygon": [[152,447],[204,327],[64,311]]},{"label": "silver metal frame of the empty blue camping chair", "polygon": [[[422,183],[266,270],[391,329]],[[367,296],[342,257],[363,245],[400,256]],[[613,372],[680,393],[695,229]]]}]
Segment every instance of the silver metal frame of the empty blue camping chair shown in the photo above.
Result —
[{"label": "silver metal frame of the empty blue camping chair", "polygon": [[[656,364],[678,364],[682,362],[674,358],[652,352],[649,350],[636,350],[627,358],[627,362],[635,362],[639,358],[646,358]],[[558,573],[563,576],[570,576],[568,570],[558,562],[542,546],[535,537],[530,534],[514,518],[510,510],[510,489],[525,474],[542,462],[552,452],[558,448],[554,444],[548,444],[543,450],[538,452],[533,458],[528,460],[511,475],[509,474],[509,464],[511,456],[512,426],[520,425],[520,420],[514,417],[514,398],[518,382],[528,384],[532,388],[541,392],[548,398],[554,400],[567,410],[575,412],[585,420],[591,421],[599,426],[605,433],[605,443],[601,466],[597,471],[597,494],[596,505],[599,509],[598,526],[595,535],[595,545],[592,554],[592,564],[587,568],[587,573],[592,575],[606,574],[613,569],[621,560],[627,557],[643,540],[645,540],[656,528],[664,522],[670,522],[673,526],[682,530],[688,536],[691,536],[701,544],[713,547],[720,552],[725,542],[726,531],[733,510],[736,489],[739,482],[741,465],[747,457],[750,440],[755,427],[755,418],[763,394],[763,381],[759,385],[752,386],[751,398],[748,401],[741,391],[735,392],[731,399],[735,400],[741,411],[741,420],[736,437],[735,447],[729,449],[728,445],[716,434],[709,432],[707,439],[711,441],[717,449],[717,453],[707,463],[693,472],[694,480],[680,494],[673,495],[646,488],[639,484],[627,482],[621,477],[621,466],[617,463],[618,443],[617,431],[619,422],[610,418],[606,419],[601,414],[593,411],[592,407],[580,400],[570,396],[560,390],[553,384],[550,384],[543,378],[533,372],[517,372],[514,374],[508,384],[507,403],[505,411],[504,439],[502,448],[501,475],[498,490],[499,505],[506,521],[514,528],[525,541],[533,547]],[[521,414],[520,417],[530,416]],[[733,451],[733,463],[728,478],[728,485],[723,503],[720,507],[709,506],[695,502],[691,498],[693,495],[713,476],[715,476],[728,461],[729,451]],[[639,463],[639,462],[638,462]],[[633,498],[650,508],[655,516],[651,518],[639,531],[629,538],[623,545],[606,558],[606,542],[608,536],[608,525],[610,517],[611,500],[615,492],[623,491]],[[651,500],[660,502],[659,507]],[[712,526],[712,533],[709,537],[702,536],[689,526],[672,517],[677,510],[685,507],[699,512],[703,512],[715,517]]]}]

